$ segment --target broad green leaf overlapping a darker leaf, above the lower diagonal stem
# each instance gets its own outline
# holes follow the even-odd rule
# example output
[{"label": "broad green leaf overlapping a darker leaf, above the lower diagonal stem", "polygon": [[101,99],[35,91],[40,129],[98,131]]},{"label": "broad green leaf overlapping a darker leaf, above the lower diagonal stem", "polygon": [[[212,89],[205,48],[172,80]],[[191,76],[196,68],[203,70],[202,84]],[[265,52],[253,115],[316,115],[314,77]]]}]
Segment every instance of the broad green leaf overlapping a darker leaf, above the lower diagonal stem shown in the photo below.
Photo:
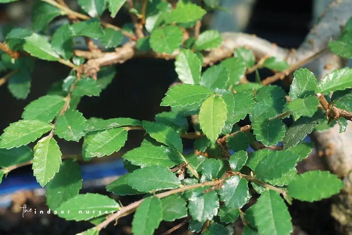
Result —
[{"label": "broad green leaf overlapping a darker leaf, above the lower diagonal stem", "polygon": [[127,175],[127,184],[140,192],[178,188],[181,184],[176,175],[162,166],[147,166]]}]

